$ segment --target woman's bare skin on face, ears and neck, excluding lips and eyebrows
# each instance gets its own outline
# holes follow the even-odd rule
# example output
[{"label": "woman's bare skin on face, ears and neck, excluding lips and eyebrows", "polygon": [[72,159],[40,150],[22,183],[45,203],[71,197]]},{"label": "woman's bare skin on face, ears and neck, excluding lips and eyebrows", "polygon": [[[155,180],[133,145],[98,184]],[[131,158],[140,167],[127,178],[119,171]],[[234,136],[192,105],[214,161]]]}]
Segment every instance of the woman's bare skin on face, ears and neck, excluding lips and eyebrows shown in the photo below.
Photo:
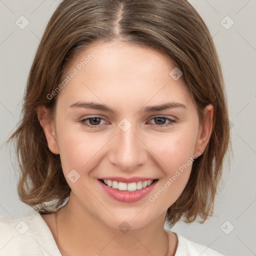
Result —
[{"label": "woman's bare skin on face, ears and neck, excluding lips and eyebrows", "polygon": [[[94,42],[71,60],[67,74],[95,48],[99,53],[58,93],[54,118],[43,118],[38,108],[51,152],[60,154],[63,173],[71,188],[69,200],[58,211],[41,215],[52,231],[63,255],[174,255],[177,238],[163,229],[167,208],[184,189],[189,165],[155,201],[156,193],[182,164],[196,152],[202,153],[212,130],[213,107],[205,108],[199,123],[196,107],[182,76],[169,72],[175,64],[149,47],[113,40]],[[69,107],[78,101],[105,104],[115,113]],[[186,106],[144,112],[144,106],[179,102]],[[164,115],[174,119],[155,119]],[[91,116],[102,119],[79,122]],[[118,123],[126,118],[127,131]],[[95,120],[94,120],[95,121]],[[169,124],[168,126],[162,126]],[[162,127],[161,127],[162,126]],[[52,134],[54,132],[54,134]],[[72,183],[67,174],[75,169],[80,178]],[[137,202],[119,202],[98,185],[103,176],[158,178],[153,190]],[[123,234],[118,226],[126,221],[131,229]],[[65,252],[66,253],[65,253]]]}]

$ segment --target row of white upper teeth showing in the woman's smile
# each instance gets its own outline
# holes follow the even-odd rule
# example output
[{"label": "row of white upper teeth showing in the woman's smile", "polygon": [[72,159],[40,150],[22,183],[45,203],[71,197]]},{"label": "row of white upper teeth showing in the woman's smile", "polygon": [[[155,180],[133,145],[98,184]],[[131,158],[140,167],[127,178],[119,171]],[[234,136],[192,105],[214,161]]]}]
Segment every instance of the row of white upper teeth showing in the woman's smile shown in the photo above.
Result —
[{"label": "row of white upper teeth showing in the woman's smile", "polygon": [[107,186],[110,186],[112,188],[121,190],[121,191],[135,191],[138,189],[145,188],[152,184],[153,180],[144,180],[144,181],[138,181],[138,182],[131,182],[131,183],[124,183],[124,182],[118,182],[115,180],[106,180],[104,179],[104,183]]}]

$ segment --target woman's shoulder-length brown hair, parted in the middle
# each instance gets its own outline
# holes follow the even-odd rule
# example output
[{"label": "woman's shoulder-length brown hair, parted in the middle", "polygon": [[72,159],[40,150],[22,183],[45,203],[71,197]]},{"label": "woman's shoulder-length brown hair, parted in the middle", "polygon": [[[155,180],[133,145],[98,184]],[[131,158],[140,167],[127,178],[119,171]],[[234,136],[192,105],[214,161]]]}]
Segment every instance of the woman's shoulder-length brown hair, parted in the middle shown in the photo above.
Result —
[{"label": "woman's shoulder-length brown hair, parted in the middle", "polygon": [[188,182],[169,206],[165,221],[172,226],[203,223],[212,216],[214,197],[229,144],[224,81],[207,26],[186,0],[63,0],[52,14],[38,45],[25,88],[22,118],[7,142],[15,141],[20,168],[19,199],[41,214],[57,211],[70,194],[59,154],[52,153],[39,123],[37,109],[53,113],[61,82],[73,56],[96,40],[145,45],[168,56],[196,105],[199,121],[212,104],[213,128],[204,152],[194,160]]}]

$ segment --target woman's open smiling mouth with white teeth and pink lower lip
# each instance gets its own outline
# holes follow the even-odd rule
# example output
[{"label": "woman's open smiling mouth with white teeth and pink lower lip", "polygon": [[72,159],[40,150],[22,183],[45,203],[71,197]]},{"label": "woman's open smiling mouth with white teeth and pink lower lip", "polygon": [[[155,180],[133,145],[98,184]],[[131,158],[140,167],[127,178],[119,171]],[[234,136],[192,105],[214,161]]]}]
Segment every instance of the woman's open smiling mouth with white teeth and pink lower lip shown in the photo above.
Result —
[{"label": "woman's open smiling mouth with white teeth and pink lower lip", "polygon": [[103,190],[113,199],[121,202],[136,202],[146,196],[158,179],[124,183],[115,180],[97,179]]}]

